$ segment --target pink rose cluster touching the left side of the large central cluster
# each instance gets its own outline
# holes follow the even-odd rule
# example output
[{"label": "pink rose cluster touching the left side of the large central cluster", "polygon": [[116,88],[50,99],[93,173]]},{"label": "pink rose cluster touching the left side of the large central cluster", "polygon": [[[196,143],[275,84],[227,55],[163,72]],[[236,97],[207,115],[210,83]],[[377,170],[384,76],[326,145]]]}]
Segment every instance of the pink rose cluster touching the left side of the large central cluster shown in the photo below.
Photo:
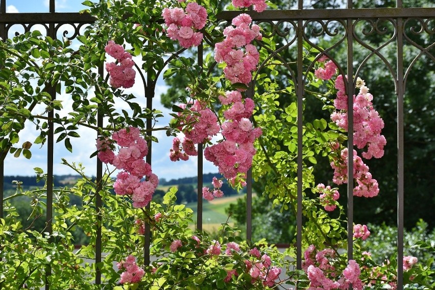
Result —
[{"label": "pink rose cluster touching the left side of the large central cluster", "polygon": [[[180,107],[184,109],[186,105],[182,104]],[[205,105],[200,101],[196,100],[189,109],[192,112],[189,115],[184,112],[178,113],[183,118],[179,129],[183,131],[185,136],[182,142],[177,137],[173,139],[170,150],[172,161],[187,160],[189,156],[197,156],[198,151],[195,144],[210,140],[221,130],[218,117],[209,108],[205,108]],[[184,128],[183,125],[185,125]]]}]

